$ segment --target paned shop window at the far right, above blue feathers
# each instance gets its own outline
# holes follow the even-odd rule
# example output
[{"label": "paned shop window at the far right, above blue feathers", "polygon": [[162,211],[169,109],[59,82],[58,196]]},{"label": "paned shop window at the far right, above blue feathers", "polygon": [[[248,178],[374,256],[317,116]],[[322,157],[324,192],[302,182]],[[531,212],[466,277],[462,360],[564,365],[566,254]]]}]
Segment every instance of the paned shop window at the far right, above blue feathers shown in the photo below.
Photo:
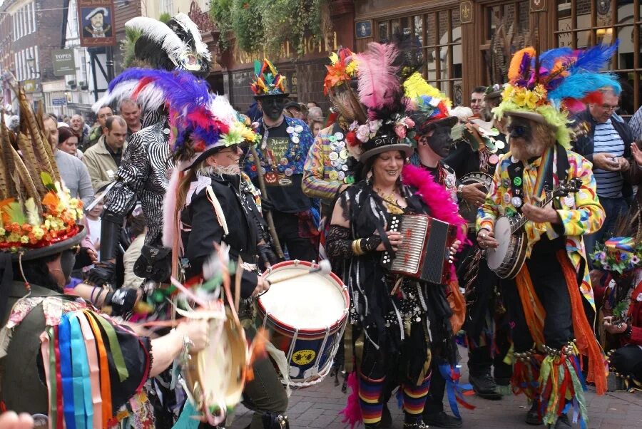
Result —
[{"label": "paned shop window at the far right, above blue feathers", "polygon": [[583,48],[619,39],[610,69],[622,84],[621,115],[642,104],[642,0],[556,0],[557,46]]}]

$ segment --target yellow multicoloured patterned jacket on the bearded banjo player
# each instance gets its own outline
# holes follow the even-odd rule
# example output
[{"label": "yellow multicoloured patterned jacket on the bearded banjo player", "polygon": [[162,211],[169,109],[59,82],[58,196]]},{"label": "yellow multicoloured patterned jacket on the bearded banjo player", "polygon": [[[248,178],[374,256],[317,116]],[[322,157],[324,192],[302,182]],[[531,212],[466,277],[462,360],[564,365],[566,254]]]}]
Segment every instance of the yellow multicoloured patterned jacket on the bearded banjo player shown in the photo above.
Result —
[{"label": "yellow multicoloured patterned jacket on the bearded banjo player", "polygon": [[[564,228],[566,236],[566,252],[577,272],[581,269],[584,259],[584,273],[582,273],[582,282],[580,289],[584,298],[595,309],[595,300],[593,299],[593,289],[591,288],[591,279],[588,276],[588,266],[586,264],[586,251],[584,249],[583,234],[596,232],[604,222],[605,214],[600,205],[597,193],[595,177],[591,162],[577,153],[566,150],[566,156],[569,159],[569,172],[567,178],[572,179],[579,177],[581,187],[579,192],[569,194],[567,197],[559,197],[554,200],[556,208],[561,219],[561,226]],[[528,189],[533,189],[537,176],[537,170],[541,157],[537,158],[531,164],[524,167],[524,192],[529,195]],[[486,202],[479,207],[477,215],[477,231],[486,228],[492,231],[494,229],[495,219],[501,215],[513,216],[516,214],[516,208],[513,205],[511,189],[511,180],[509,177],[508,167],[511,165],[511,153],[506,153],[499,160],[495,170],[493,182]],[[553,185],[559,186],[559,178],[556,172],[556,159],[553,161]],[[526,222],[524,225],[526,236],[528,237],[529,246],[526,256],[528,257],[534,244],[539,241],[541,234],[546,234],[549,239],[559,237],[550,223],[535,224]]]}]

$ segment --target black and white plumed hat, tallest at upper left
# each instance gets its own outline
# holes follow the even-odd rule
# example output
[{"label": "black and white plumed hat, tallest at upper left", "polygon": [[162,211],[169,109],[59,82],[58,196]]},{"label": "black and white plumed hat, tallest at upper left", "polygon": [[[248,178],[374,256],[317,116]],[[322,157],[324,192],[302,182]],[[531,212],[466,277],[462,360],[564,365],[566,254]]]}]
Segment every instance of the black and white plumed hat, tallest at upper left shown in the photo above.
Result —
[{"label": "black and white plumed hat, tallest at upper left", "polygon": [[150,68],[186,70],[203,77],[210,73],[210,51],[189,16],[176,14],[167,24],[137,16],[125,26],[142,33],[134,46],[134,54]]}]

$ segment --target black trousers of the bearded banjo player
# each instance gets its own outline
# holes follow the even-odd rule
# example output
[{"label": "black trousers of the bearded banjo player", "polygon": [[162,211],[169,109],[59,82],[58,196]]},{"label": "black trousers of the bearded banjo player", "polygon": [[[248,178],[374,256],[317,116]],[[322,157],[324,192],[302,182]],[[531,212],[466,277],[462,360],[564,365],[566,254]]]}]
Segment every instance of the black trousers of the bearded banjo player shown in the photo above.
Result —
[{"label": "black trousers of the bearded banjo player", "polygon": [[[544,341],[546,346],[558,350],[573,339],[571,298],[556,255],[556,251],[562,249],[564,245],[559,240],[551,241],[542,237],[535,244],[531,257],[526,259],[526,267],[531,274],[535,294],[546,310]],[[534,341],[526,325],[524,308],[521,305],[515,281],[501,281],[501,289],[509,314],[514,351],[528,351]]]}]

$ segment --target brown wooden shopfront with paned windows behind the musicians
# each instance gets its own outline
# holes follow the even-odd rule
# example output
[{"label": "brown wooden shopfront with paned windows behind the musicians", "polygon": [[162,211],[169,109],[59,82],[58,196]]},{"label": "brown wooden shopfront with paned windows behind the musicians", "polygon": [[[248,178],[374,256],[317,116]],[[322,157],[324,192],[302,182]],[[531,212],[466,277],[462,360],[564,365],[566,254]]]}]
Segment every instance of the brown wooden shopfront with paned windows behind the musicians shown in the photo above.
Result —
[{"label": "brown wooden shopfront with paned windows behind the musicians", "polygon": [[642,103],[641,16],[642,0],[356,0],[354,47],[397,30],[412,35],[424,51],[427,81],[467,105],[472,88],[505,79],[507,40],[512,51],[524,43],[543,51],[619,38],[611,69],[623,85],[620,113],[631,115]]}]

